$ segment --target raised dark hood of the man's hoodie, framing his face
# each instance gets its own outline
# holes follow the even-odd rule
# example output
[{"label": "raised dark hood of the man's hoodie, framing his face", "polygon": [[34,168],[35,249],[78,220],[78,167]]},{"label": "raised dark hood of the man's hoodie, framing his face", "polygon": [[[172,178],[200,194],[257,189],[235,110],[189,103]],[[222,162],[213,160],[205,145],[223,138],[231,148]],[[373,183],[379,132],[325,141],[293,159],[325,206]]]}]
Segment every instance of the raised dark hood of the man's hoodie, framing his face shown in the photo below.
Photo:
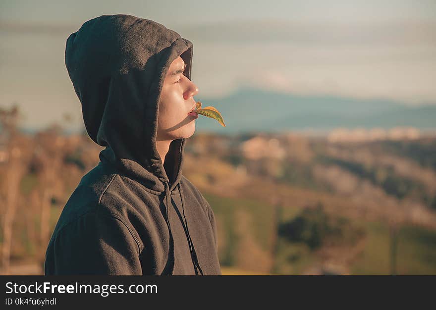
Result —
[{"label": "raised dark hood of the man's hoodie, framing his face", "polygon": [[191,79],[192,49],[162,24],[124,14],[91,19],[66,41],[65,64],[86,130],[106,147],[101,161],[159,193],[179,183],[185,145],[173,140],[163,165],[156,148],[163,81],[178,56]]}]

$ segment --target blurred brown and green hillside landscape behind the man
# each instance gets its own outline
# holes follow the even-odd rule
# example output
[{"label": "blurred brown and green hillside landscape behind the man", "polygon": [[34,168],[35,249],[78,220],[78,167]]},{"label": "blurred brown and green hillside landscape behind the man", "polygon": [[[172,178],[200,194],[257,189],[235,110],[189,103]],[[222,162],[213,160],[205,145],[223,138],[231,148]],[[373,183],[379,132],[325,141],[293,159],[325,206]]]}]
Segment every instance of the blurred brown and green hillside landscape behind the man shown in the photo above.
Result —
[{"label": "blurred brown and green hillside landscape behind the man", "polygon": [[[24,134],[16,107],[0,112],[0,273],[38,274],[62,207],[103,148],[60,125]],[[195,133],[185,152],[183,174],[214,209],[229,273],[436,274],[436,136]]]}]

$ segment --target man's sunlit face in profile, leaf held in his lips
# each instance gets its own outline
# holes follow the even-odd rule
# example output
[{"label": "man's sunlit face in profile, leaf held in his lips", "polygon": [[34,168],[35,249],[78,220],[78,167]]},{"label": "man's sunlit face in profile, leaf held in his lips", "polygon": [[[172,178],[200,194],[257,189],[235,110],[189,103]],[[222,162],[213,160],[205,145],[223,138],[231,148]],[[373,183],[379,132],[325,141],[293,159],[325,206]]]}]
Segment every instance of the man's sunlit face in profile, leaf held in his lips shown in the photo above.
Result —
[{"label": "man's sunlit face in profile, leaf held in his lips", "polygon": [[195,117],[188,112],[193,106],[196,108],[193,96],[198,89],[183,75],[184,69],[185,63],[179,56],[166,74],[159,103],[157,141],[189,138],[194,134]]}]

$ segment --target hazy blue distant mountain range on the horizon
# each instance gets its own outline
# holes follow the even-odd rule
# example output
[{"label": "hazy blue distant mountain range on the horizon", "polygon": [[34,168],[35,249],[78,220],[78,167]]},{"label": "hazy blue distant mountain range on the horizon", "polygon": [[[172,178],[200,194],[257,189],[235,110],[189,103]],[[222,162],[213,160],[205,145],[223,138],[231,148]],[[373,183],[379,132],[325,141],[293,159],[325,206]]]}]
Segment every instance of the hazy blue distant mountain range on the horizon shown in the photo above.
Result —
[{"label": "hazy blue distant mountain range on the horizon", "polygon": [[196,96],[203,106],[213,105],[222,114],[226,127],[199,117],[198,131],[239,133],[246,131],[330,130],[335,127],[413,126],[436,128],[436,105],[410,107],[379,99],[335,96],[298,96],[252,88],[242,88],[220,98]]}]

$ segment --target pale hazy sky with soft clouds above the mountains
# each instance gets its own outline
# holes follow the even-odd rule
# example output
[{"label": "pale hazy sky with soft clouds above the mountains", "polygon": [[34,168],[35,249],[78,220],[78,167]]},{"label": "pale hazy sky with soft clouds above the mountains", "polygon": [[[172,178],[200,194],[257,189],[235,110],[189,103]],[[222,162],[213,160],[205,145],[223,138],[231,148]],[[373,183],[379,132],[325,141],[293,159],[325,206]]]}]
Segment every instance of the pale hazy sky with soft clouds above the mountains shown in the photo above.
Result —
[{"label": "pale hazy sky with soft clouds above the mountains", "polygon": [[65,41],[87,20],[125,13],[162,23],[194,44],[202,96],[249,85],[281,92],[436,103],[436,1],[0,1],[0,106],[24,125],[73,116],[80,103]]}]

